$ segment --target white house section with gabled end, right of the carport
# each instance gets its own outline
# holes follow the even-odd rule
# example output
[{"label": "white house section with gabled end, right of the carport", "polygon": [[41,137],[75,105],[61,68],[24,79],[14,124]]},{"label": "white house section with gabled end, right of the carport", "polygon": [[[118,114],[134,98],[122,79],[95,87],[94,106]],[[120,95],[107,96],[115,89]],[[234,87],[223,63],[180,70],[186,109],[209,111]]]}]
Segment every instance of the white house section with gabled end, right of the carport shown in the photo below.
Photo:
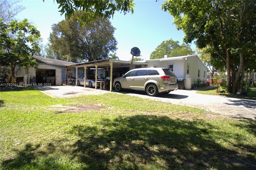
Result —
[{"label": "white house section with gabled end, right of the carport", "polygon": [[191,84],[195,84],[198,79],[202,82],[207,79],[208,68],[202,63],[198,55],[150,59],[146,60],[146,62],[148,63],[148,67],[170,68],[177,75],[178,79],[189,80],[189,77]]}]

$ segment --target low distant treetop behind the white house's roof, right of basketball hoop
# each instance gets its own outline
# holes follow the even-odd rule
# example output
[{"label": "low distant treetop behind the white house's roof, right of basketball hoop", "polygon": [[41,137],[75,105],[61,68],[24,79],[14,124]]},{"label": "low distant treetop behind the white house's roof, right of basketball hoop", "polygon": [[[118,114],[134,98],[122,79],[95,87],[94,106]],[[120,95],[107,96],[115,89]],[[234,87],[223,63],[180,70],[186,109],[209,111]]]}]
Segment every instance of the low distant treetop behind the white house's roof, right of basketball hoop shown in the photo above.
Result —
[{"label": "low distant treetop behind the white house's roof, right of basketball hoop", "polygon": [[194,51],[192,51],[189,45],[184,43],[180,45],[178,41],[173,41],[171,39],[163,41],[160,45],[158,45],[155,51],[150,54],[150,59],[164,58],[164,55],[167,55],[167,57],[177,57],[188,54],[194,54]]}]

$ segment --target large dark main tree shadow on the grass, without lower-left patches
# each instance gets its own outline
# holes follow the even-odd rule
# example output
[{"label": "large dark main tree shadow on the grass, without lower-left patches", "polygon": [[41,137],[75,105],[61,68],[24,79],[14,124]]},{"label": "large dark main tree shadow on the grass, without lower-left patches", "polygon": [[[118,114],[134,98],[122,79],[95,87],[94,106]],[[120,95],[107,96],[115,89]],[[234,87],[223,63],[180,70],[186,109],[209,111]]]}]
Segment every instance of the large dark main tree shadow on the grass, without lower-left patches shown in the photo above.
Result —
[{"label": "large dark main tree shadow on the grass, without lower-left patches", "polygon": [[[100,125],[106,128],[74,127],[81,139],[74,145],[77,149],[73,154],[92,169],[137,169],[143,159],[150,169],[256,168],[256,158],[239,155],[217,144],[210,135],[214,127],[209,124],[134,116],[104,120]],[[247,148],[248,152],[255,150],[239,147]],[[108,164],[110,159],[115,164]]]}]

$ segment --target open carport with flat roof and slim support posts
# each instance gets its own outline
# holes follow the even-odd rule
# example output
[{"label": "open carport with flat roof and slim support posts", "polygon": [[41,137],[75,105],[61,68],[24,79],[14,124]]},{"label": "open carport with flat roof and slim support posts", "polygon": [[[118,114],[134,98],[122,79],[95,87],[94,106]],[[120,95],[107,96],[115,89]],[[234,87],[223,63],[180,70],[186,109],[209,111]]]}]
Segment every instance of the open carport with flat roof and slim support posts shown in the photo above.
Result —
[{"label": "open carport with flat roof and slim support posts", "polygon": [[[69,65],[69,66],[66,66],[65,68],[66,70],[71,68],[76,68],[76,80],[78,78],[78,68],[84,68],[84,77],[86,77],[86,69],[95,68],[96,69],[95,89],[97,88],[98,68],[109,68],[110,71],[108,71],[108,74],[109,74],[108,77],[110,77],[110,91],[112,91],[112,83],[114,80],[113,69],[122,68],[122,67],[129,67],[129,70],[134,68],[143,68],[143,67],[148,67],[148,63],[144,61],[131,62],[131,61],[116,60],[116,59],[104,59],[104,60],[98,60],[98,61],[89,61],[86,63],[80,63],[75,65]],[[66,78],[67,78],[67,75],[66,75]],[[86,79],[84,79],[84,87],[85,87],[85,84],[86,84]],[[77,85],[77,81],[76,81],[76,85]]]}]

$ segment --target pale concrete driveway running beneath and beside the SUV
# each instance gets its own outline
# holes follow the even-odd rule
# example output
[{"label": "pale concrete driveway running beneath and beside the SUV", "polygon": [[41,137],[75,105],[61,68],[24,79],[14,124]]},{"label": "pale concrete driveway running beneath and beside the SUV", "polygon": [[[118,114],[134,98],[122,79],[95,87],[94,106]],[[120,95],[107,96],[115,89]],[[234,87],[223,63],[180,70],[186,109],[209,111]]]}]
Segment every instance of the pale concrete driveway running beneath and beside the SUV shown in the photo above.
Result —
[{"label": "pale concrete driveway running beneath and beside the SUV", "polygon": [[[106,90],[68,85],[35,88],[52,97],[72,97],[74,95],[100,95],[104,93],[113,93]],[[254,100],[236,99],[231,97],[222,97],[219,95],[201,95],[197,94],[196,90],[179,89],[172,91],[169,94],[160,94],[156,97],[150,97],[146,95],[146,92],[140,91],[126,90],[121,93],[176,105],[196,107],[206,111],[229,115],[236,119],[249,118],[256,121],[256,101]]]}]

